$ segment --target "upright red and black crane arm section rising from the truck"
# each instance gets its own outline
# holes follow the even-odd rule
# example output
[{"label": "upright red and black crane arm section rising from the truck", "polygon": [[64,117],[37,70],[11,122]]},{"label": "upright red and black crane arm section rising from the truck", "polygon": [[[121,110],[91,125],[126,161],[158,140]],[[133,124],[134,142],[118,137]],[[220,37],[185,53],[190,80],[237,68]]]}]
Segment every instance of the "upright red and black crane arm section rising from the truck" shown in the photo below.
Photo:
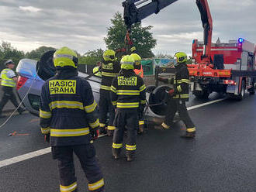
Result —
[{"label": "upright red and black crane arm section rising from the truck", "polygon": [[[202,27],[203,27],[203,54],[202,57],[208,58],[211,52],[212,33],[213,33],[213,19],[209,12],[209,5],[207,0],[196,0],[196,5],[201,14]],[[206,59],[208,62],[209,60]]]}]

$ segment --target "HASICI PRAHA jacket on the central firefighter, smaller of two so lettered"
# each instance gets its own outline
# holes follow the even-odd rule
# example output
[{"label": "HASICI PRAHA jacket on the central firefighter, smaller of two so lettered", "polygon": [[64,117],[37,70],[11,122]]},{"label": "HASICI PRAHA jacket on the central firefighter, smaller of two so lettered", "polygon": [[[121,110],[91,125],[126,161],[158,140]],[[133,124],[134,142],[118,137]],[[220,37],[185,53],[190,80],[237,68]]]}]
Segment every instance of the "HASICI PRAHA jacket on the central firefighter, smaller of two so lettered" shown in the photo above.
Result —
[{"label": "HASICI PRAHA jacket on the central firefighter, smaller of two so lettered", "polygon": [[141,77],[133,70],[121,70],[111,86],[112,105],[121,109],[144,108],[146,104],[146,86]]}]

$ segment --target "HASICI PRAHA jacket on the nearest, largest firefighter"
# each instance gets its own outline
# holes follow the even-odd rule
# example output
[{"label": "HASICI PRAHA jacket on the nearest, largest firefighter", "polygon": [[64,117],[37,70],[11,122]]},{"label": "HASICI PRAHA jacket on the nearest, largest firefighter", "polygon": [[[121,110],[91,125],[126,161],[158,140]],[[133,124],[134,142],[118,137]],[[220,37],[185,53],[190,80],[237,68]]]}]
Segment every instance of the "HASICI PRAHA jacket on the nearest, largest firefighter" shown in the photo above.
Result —
[{"label": "HASICI PRAHA jacket on the nearest, largest firefighter", "polygon": [[43,84],[40,125],[50,133],[50,146],[73,146],[91,141],[90,129],[99,127],[92,87],[74,69],[60,70]]}]

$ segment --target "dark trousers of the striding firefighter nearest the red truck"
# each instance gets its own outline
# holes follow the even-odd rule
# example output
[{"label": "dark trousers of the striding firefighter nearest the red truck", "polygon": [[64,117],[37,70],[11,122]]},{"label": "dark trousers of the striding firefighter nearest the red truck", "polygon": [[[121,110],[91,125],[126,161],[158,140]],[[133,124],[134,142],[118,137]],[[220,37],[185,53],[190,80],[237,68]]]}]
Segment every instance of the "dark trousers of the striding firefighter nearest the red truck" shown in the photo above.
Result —
[{"label": "dark trousers of the striding firefighter nearest the red truck", "polygon": [[170,125],[175,118],[175,113],[178,111],[179,117],[182,119],[182,122],[185,123],[187,132],[195,132],[195,125],[192,122],[192,119],[189,117],[188,110],[185,106],[185,101],[170,98],[168,100],[168,111],[164,118],[162,126],[165,129],[170,128]]}]

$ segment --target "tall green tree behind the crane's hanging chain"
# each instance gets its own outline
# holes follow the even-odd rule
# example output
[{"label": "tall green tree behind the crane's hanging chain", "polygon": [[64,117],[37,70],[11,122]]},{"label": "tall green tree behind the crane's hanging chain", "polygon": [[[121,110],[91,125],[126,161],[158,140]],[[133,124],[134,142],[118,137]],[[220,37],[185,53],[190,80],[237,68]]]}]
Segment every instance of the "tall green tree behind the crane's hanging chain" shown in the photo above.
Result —
[{"label": "tall green tree behind the crane's hanging chain", "polygon": [[[111,19],[112,26],[108,28],[107,37],[104,38],[108,49],[117,50],[126,47],[124,37],[126,36],[126,25],[121,13],[116,12]],[[157,40],[153,38],[150,29],[153,26],[142,27],[140,23],[132,26],[133,45],[136,46],[140,57],[154,57],[152,50],[157,45]]]}]

